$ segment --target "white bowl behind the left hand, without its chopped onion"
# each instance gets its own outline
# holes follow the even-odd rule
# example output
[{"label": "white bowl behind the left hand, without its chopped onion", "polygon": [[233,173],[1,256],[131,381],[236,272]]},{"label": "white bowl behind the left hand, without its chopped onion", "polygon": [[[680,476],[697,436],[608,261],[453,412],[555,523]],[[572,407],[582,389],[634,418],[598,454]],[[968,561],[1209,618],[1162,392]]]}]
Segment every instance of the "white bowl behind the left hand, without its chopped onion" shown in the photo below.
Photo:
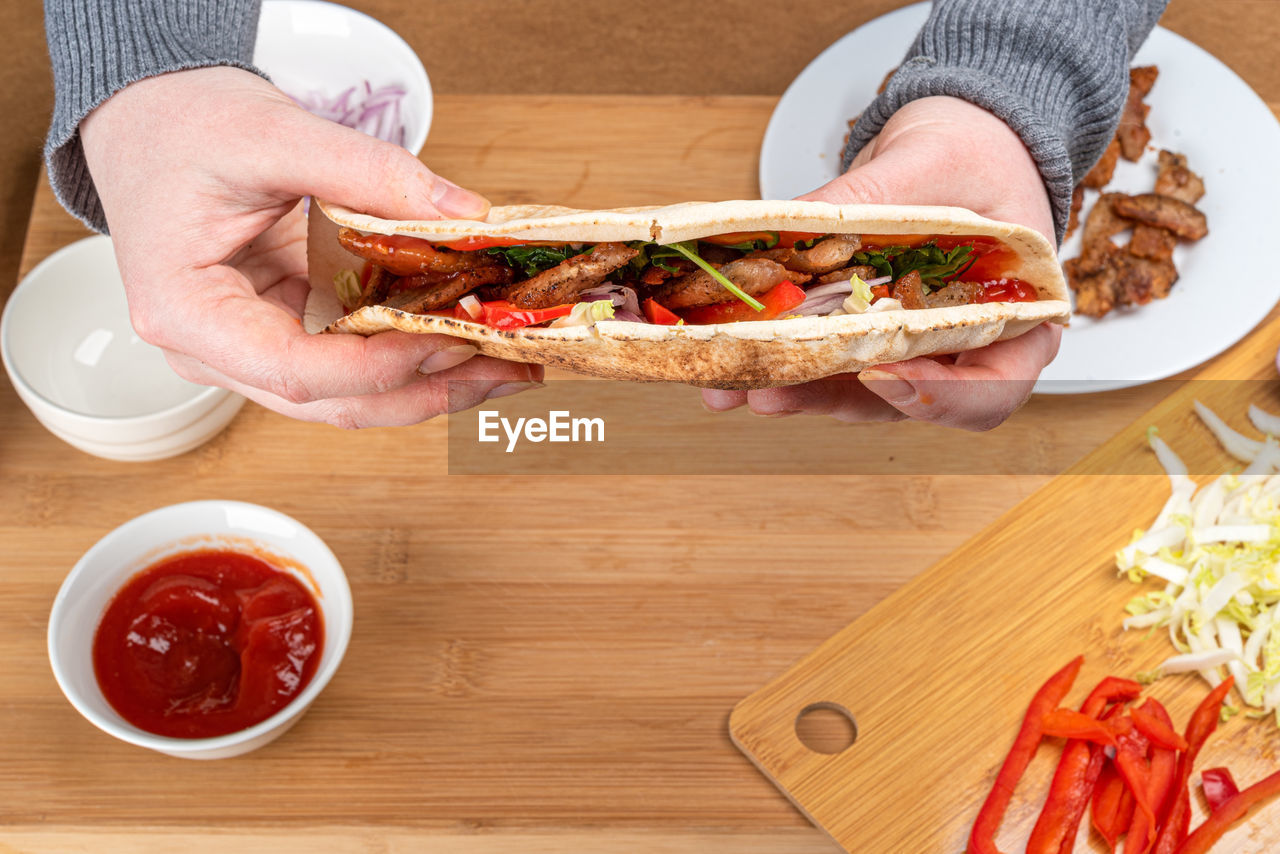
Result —
[{"label": "white bowl behind the left hand, without its chopped onion", "polygon": [[431,128],[431,82],[408,44],[362,12],[324,0],[264,0],[253,64],[294,99],[333,99],[352,86],[399,85],[404,147],[421,154]]}]

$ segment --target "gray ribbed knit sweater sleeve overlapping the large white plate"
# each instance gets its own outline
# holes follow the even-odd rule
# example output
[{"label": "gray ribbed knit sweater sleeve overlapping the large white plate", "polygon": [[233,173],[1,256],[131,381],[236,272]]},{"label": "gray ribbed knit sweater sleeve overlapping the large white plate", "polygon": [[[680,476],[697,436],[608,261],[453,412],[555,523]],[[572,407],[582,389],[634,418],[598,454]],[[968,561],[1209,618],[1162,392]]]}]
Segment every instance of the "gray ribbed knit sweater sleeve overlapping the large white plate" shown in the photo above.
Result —
[{"label": "gray ribbed knit sweater sleeve overlapping the large white plate", "polygon": [[1000,117],[1039,165],[1061,241],[1071,188],[1102,155],[1129,63],[1169,0],[934,0],[929,19],[845,147],[854,155],[908,101],[960,97]]}]

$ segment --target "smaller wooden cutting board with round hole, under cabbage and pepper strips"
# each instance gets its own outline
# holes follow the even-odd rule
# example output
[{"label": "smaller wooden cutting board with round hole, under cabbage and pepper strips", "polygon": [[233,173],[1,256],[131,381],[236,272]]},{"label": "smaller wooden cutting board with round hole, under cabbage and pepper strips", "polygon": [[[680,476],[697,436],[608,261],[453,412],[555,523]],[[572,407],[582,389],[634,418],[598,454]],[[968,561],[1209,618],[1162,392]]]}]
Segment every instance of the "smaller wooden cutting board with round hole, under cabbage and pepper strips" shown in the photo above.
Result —
[{"label": "smaller wooden cutting board with round hole, under cabbage and pepper strips", "polygon": [[[1280,323],[1271,321],[744,699],[730,718],[737,746],[847,851],[963,851],[1032,694],[1053,671],[1084,653],[1068,697],[1075,704],[1102,676],[1132,676],[1170,654],[1162,631],[1120,629],[1123,607],[1139,586],[1116,576],[1112,557],[1135,528],[1155,520],[1169,495],[1167,479],[1146,447],[1147,426],[1157,425],[1192,471],[1206,475],[1201,480],[1238,466],[1196,417],[1192,401],[1202,399],[1256,435],[1245,417],[1249,403],[1280,412],[1277,344]],[[858,568],[855,561],[851,570]],[[1148,693],[1181,727],[1206,690],[1198,677],[1178,676]],[[814,705],[854,718],[856,739],[847,749],[818,753],[801,743],[797,718]],[[1228,764],[1243,786],[1280,767],[1277,748],[1274,721],[1238,716],[1208,741],[1197,767]],[[1028,769],[1007,812],[1001,850],[1021,850],[1059,754],[1056,746],[1042,748]],[[1194,809],[1198,823],[1202,805]],[[1087,823],[1076,850],[1106,850],[1088,836]],[[1217,850],[1277,846],[1280,804],[1272,804]]]}]

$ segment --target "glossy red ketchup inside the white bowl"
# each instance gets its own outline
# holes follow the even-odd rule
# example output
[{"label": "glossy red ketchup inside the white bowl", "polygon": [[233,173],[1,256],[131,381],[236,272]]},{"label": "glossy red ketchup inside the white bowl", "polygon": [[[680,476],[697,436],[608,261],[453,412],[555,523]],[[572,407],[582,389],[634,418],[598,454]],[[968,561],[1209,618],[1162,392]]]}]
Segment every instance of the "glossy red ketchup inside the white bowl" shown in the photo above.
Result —
[{"label": "glossy red ketchup inside the white bowl", "polygon": [[93,672],[129,723],[204,739],[284,708],[323,645],[320,606],[298,579],[252,554],[188,552],[115,594],[93,638]]}]

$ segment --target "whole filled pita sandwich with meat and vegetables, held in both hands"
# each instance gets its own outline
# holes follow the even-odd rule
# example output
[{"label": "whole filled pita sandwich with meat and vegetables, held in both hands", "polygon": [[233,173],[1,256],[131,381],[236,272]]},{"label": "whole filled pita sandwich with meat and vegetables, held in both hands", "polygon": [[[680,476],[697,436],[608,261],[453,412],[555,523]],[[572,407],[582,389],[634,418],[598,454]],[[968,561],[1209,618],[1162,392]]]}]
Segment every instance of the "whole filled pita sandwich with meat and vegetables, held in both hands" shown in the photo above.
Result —
[{"label": "whole filled pita sandwich with meat and vegetables, held in both hands", "polygon": [[959,207],[508,206],[404,222],[316,201],[308,229],[308,332],[440,333],[613,379],[791,385],[1070,316],[1042,234]]}]

